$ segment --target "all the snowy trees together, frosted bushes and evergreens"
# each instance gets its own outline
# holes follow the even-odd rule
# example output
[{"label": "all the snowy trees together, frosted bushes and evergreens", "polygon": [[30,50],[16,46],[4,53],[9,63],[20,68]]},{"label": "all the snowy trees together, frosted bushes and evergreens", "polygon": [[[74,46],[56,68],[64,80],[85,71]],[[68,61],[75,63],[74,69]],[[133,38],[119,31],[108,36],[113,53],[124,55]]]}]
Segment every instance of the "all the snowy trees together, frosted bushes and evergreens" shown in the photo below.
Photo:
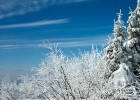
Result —
[{"label": "all the snowy trees together, frosted bushes and evergreens", "polygon": [[105,52],[69,58],[52,46],[32,76],[0,83],[0,100],[138,100],[140,98],[140,0],[130,10],[128,27],[122,13],[114,21],[114,39]]}]

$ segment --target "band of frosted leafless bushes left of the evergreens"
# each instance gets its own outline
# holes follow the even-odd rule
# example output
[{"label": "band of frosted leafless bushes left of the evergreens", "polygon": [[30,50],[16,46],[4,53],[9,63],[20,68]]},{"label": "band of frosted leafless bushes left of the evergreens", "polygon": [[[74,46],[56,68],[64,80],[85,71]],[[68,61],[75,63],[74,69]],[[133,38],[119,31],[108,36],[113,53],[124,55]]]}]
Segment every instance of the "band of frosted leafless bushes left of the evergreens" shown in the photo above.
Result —
[{"label": "band of frosted leafless bushes left of the evergreens", "polygon": [[[68,58],[61,50],[51,47],[40,67],[31,77],[15,82],[4,78],[0,100],[94,100],[106,98],[104,91],[105,60],[97,50]],[[111,90],[110,90],[111,91]],[[104,95],[103,95],[104,94]],[[110,93],[108,93],[109,95]]]}]

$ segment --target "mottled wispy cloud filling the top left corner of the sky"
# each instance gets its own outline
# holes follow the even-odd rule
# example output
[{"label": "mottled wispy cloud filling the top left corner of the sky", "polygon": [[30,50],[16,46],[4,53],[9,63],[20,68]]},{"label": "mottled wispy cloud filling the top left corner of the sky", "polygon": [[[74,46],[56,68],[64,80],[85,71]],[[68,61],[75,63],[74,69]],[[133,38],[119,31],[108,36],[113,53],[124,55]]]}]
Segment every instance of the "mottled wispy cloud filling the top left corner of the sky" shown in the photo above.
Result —
[{"label": "mottled wispy cloud filling the top left corner of the sky", "polygon": [[0,19],[38,11],[51,5],[83,1],[86,0],[0,0]]}]

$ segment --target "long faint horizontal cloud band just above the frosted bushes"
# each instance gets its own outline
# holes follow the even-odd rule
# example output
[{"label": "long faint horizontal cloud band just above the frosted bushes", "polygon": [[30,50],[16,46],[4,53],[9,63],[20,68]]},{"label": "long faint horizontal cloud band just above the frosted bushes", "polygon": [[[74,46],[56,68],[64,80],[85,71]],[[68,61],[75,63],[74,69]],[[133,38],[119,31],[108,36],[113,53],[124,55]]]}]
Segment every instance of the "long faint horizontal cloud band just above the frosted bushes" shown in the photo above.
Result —
[{"label": "long faint horizontal cloud band just above the frosted bushes", "polygon": [[[50,39],[50,40],[11,40],[10,43],[7,41],[5,44],[0,45],[0,49],[21,49],[21,48],[44,48],[43,41],[47,44],[49,41],[51,45],[59,44],[61,48],[69,47],[86,47],[94,45],[103,45],[106,37],[90,37],[90,38],[63,38],[63,39]],[[0,41],[0,43],[3,43]]]}]

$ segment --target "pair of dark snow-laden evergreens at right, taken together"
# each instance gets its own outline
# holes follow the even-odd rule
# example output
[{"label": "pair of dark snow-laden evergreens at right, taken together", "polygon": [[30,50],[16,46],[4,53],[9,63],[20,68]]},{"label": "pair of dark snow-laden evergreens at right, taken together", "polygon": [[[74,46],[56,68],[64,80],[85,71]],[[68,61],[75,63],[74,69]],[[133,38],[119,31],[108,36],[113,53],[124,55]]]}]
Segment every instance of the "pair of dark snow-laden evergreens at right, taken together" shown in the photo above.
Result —
[{"label": "pair of dark snow-laden evergreens at right, taken together", "polygon": [[114,21],[114,39],[106,48],[106,76],[114,89],[126,91],[126,95],[140,96],[140,0],[134,11],[130,10],[128,27],[124,26],[122,13]]}]

